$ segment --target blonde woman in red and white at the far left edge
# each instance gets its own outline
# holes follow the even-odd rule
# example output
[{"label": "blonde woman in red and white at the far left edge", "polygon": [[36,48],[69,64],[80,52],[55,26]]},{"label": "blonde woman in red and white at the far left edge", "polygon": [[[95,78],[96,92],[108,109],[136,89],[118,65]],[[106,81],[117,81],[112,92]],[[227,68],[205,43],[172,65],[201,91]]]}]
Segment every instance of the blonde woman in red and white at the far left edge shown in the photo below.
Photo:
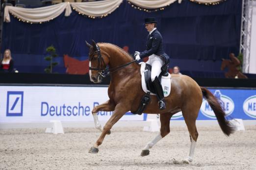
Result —
[{"label": "blonde woman in red and white at the far left edge", "polygon": [[11,51],[6,49],[3,54],[3,59],[0,61],[0,72],[13,72],[13,63]]}]

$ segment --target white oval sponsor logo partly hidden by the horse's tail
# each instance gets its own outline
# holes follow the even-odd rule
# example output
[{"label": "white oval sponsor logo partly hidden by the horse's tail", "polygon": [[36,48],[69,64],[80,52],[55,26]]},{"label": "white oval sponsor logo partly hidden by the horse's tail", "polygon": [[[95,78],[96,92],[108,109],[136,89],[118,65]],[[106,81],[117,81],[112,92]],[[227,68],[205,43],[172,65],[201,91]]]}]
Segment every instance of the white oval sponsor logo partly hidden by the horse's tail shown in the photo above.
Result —
[{"label": "white oval sponsor logo partly hidden by the horse's tail", "polygon": [[[230,115],[234,111],[234,102],[230,97],[221,94],[220,90],[215,90],[214,96],[219,99],[222,108],[224,108],[226,116]],[[212,108],[205,99],[203,99],[200,110],[206,117],[216,119]]]}]

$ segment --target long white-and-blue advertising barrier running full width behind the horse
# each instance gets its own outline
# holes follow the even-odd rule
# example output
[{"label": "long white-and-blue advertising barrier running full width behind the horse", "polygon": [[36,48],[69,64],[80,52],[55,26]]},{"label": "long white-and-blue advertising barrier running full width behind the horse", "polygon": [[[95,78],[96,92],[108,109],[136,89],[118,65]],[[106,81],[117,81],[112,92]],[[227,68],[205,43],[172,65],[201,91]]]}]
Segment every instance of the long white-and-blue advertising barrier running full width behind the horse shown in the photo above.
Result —
[{"label": "long white-and-blue advertising barrier running full width behind the horse", "polygon": [[[256,90],[217,88],[209,90],[220,99],[229,118],[256,119]],[[93,107],[107,100],[107,87],[0,86],[0,123],[93,121],[91,114]],[[98,115],[100,121],[107,121],[112,112],[99,111]],[[146,119],[147,114],[127,113],[121,121]],[[181,112],[172,117],[172,120],[182,119]],[[214,119],[216,119],[215,114],[203,99],[197,120]]]}]

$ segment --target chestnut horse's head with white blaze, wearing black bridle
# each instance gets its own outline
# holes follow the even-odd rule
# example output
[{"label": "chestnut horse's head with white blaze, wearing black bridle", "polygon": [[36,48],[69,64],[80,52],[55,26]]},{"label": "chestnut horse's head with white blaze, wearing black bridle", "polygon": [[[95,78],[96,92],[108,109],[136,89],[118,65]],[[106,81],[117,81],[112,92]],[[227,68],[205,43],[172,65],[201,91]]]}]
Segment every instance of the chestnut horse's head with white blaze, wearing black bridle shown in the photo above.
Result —
[{"label": "chestnut horse's head with white blaze, wearing black bridle", "polygon": [[92,40],[92,45],[86,42],[89,49],[89,75],[93,83],[102,81],[102,70],[109,63],[106,52],[102,52],[100,46]]}]

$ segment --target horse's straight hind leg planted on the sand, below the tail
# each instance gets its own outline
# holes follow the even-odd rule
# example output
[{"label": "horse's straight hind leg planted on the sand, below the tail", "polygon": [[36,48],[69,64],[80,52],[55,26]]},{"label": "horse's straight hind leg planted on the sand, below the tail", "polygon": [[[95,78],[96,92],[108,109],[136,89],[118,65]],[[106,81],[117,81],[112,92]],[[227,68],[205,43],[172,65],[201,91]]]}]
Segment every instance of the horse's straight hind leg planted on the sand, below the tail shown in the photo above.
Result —
[{"label": "horse's straight hind leg planted on the sand, below the tail", "polygon": [[198,116],[199,109],[182,109],[182,114],[187,125],[190,137],[190,150],[189,155],[183,160],[183,163],[189,164],[189,162],[193,161],[194,151],[196,148],[196,142],[198,138],[198,132],[196,127],[196,119]]}]

